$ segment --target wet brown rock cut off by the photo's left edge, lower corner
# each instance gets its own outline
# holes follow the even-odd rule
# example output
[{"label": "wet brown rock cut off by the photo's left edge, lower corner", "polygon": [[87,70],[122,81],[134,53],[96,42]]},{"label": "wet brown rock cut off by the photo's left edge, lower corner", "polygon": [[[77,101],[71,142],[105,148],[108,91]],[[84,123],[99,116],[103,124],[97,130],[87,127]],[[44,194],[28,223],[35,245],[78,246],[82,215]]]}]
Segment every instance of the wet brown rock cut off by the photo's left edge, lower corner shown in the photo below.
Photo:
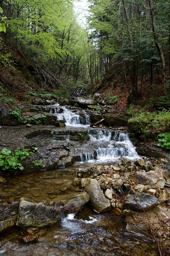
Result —
[{"label": "wet brown rock cut off by the photo's left edge, lower corner", "polygon": [[16,229],[17,216],[8,217],[6,220],[0,220],[0,235],[6,235]]}]

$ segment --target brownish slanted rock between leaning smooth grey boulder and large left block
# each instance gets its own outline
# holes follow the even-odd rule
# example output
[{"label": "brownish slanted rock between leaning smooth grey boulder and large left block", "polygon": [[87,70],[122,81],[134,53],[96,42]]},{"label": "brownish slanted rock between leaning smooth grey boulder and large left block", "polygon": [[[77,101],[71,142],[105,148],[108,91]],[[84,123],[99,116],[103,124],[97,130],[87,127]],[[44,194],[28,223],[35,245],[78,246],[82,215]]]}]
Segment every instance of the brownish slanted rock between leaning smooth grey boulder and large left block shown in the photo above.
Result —
[{"label": "brownish slanted rock between leaning smooth grey boulder and large left block", "polygon": [[67,215],[69,213],[78,212],[83,209],[85,204],[88,203],[89,198],[90,197],[86,192],[78,193],[73,196],[69,196],[65,200],[57,202],[56,207],[62,207],[65,215]]}]

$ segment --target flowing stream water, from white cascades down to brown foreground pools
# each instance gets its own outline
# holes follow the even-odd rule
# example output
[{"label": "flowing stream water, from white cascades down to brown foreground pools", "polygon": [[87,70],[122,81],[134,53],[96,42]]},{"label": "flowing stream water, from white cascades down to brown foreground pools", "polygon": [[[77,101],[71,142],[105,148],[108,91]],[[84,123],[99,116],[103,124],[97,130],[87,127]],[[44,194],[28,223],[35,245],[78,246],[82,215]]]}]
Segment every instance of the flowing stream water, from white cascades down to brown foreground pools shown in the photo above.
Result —
[{"label": "flowing stream water, from white cascades down to brown foreground pools", "polygon": [[[94,151],[83,150],[80,162],[71,167],[7,178],[8,182],[0,187],[1,220],[17,214],[17,202],[22,196],[41,204],[50,204],[75,194],[75,189],[78,188],[73,187],[72,181],[77,177],[76,172],[94,161],[107,164],[120,157],[132,160],[139,158],[128,133],[90,128],[90,117],[85,112],[75,113],[73,108],[68,110],[58,104],[48,108],[50,113],[56,115],[56,120],[64,120],[70,131],[75,128],[87,129]],[[70,141],[69,136],[67,141]],[[9,204],[10,199],[16,203]],[[35,243],[20,244],[18,239],[26,231],[19,228],[1,237],[0,256],[159,255],[152,236],[143,234],[142,231],[130,233],[125,227],[126,223],[119,217],[110,212],[94,212],[87,204],[80,212],[62,217],[60,223],[40,228],[39,240]]]}]

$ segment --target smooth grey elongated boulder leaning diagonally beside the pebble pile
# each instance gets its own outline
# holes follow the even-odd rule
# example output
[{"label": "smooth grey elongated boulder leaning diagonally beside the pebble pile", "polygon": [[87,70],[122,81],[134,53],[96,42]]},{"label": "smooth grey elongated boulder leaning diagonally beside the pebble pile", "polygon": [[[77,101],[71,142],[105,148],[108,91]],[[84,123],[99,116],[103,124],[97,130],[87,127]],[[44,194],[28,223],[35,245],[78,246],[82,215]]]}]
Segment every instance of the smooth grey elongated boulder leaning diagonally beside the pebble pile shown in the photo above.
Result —
[{"label": "smooth grey elongated boulder leaning diagonally beside the pebble pile", "polygon": [[110,200],[104,195],[97,180],[89,179],[85,185],[85,190],[90,196],[90,202],[95,211],[104,212],[111,210]]}]

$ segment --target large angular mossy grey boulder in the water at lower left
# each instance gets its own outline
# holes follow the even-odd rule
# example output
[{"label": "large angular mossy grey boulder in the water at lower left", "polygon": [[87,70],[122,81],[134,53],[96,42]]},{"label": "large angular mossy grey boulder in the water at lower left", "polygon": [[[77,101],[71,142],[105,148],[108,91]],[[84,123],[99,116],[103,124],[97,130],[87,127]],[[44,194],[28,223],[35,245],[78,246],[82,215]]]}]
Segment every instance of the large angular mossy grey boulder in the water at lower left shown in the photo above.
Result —
[{"label": "large angular mossy grey boulder in the water at lower left", "polygon": [[56,224],[60,218],[54,207],[38,204],[25,197],[20,198],[17,226],[41,228]]}]

